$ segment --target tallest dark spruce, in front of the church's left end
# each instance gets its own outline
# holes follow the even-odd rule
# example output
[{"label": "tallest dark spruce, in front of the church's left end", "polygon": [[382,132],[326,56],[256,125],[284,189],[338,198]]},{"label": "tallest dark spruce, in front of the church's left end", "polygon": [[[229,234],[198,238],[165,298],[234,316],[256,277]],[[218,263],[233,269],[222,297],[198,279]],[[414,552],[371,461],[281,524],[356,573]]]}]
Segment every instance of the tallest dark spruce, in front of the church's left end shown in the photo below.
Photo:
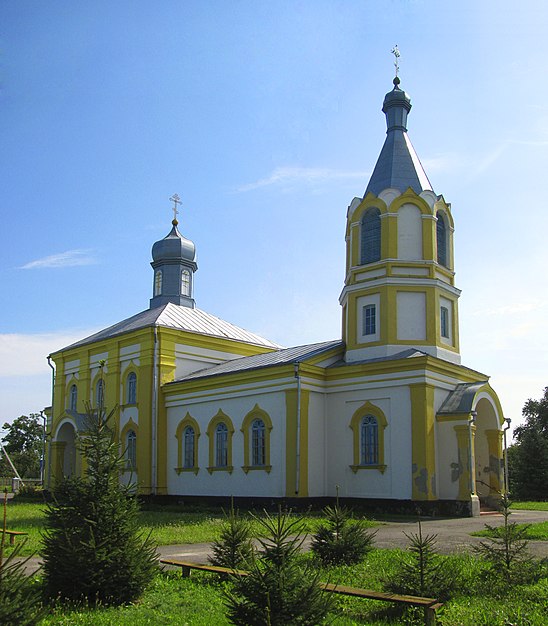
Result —
[{"label": "tallest dark spruce, in front of the church's left end", "polygon": [[134,488],[120,483],[124,461],[113,413],[88,407],[77,444],[83,476],[60,481],[46,509],[42,557],[50,598],[124,604],[142,594],[156,571],[154,546],[139,531]]}]

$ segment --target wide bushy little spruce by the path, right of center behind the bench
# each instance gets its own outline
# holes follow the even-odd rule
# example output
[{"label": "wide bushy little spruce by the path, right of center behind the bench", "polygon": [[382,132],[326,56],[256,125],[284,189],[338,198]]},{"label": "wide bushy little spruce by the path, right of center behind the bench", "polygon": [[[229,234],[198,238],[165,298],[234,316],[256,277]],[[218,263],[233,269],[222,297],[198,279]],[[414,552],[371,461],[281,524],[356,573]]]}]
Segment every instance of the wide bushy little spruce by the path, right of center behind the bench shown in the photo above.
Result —
[{"label": "wide bushy little spruce by the path, right of center behind the bench", "polygon": [[373,549],[376,531],[368,531],[362,521],[351,519],[351,511],[339,505],[323,509],[327,523],[314,534],[312,552],[323,565],[359,563]]}]

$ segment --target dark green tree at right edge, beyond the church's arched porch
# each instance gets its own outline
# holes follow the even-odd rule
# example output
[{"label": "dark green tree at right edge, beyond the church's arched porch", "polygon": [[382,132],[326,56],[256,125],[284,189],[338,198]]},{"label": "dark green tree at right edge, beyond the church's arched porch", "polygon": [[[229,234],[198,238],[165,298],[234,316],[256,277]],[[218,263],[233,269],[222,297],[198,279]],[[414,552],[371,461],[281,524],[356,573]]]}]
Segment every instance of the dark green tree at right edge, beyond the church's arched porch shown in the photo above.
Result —
[{"label": "dark green tree at right edge, beyond the church's arched porch", "polygon": [[508,449],[510,492],[518,500],[548,500],[548,387],[540,400],[527,400],[525,423]]}]

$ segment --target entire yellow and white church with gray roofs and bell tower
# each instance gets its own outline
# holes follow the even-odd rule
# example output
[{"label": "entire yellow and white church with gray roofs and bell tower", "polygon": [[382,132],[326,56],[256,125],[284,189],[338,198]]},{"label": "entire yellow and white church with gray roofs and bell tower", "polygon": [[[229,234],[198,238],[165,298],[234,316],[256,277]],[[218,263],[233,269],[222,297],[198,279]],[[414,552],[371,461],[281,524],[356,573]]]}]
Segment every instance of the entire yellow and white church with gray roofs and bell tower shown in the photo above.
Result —
[{"label": "entire yellow and white church with gray roofs and bell tower", "polygon": [[497,497],[502,408],[488,377],[461,365],[451,205],[411,144],[399,84],[347,211],[342,337],[282,348],[197,308],[195,246],[175,216],[152,247],[149,308],[49,357],[50,487],[81,472],[91,405],[115,409],[122,480],[145,495],[338,492],[465,515]]}]

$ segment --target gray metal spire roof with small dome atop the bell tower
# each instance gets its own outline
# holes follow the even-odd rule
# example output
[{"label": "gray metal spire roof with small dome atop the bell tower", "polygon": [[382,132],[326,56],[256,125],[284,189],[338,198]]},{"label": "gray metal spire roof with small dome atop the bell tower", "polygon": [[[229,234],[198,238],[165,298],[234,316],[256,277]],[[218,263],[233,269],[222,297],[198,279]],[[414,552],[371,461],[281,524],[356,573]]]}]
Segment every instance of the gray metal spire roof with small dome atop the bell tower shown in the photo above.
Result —
[{"label": "gray metal spire roof with small dome atop the bell tower", "polygon": [[409,187],[417,194],[432,191],[432,185],[419,157],[407,135],[407,114],[411,110],[409,96],[399,89],[386,94],[382,110],[386,114],[386,140],[365,190],[376,196],[384,189],[397,189],[401,193]]}]

